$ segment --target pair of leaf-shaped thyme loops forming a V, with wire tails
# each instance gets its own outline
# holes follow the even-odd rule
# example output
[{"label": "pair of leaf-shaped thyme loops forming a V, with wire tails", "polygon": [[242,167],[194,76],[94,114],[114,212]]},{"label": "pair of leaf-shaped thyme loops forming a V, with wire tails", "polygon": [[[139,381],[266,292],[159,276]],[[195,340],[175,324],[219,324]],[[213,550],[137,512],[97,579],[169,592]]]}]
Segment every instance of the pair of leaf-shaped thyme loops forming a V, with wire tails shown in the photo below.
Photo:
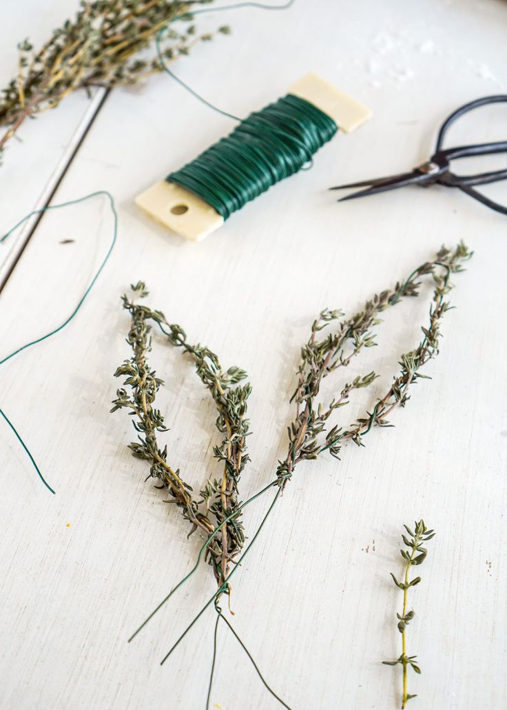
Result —
[{"label": "pair of leaf-shaped thyme loops forming a V, with wire tails", "polygon": [[[296,390],[291,398],[295,403],[296,414],[288,429],[289,442],[286,456],[279,461],[274,479],[245,503],[238,501],[239,474],[245,465],[245,436],[248,433],[248,424],[244,417],[246,400],[250,395],[250,385],[238,386],[238,381],[245,378],[244,371],[230,368],[224,373],[215,355],[201,346],[189,346],[182,328],[167,322],[162,312],[135,305],[128,297],[123,297],[123,307],[132,317],[128,342],[133,347],[133,357],[118,368],[116,375],[127,376],[125,384],[130,386],[131,394],[128,395],[125,389],[118,390],[113,409],[128,408],[135,415],[135,428],[140,432],[140,443],[130,444],[130,448],[135,456],[150,461],[151,475],[160,479],[162,484],[169,488],[185,517],[193,525],[192,529],[200,528],[204,532],[206,542],[201,548],[199,559],[202,552],[206,552],[218,582],[217,591],[177,639],[162,663],[167,660],[205,609],[216,602],[221,594],[229,593],[230,577],[235,574],[238,563],[247,554],[260,532],[258,528],[252,535],[249,545],[242,552],[245,537],[243,527],[240,525],[240,515],[243,508],[267,492],[269,488],[276,488],[276,496],[262,520],[260,526],[262,527],[279,500],[279,494],[294,475],[297,464],[301,461],[317,459],[325,452],[330,452],[335,458],[339,458],[340,451],[347,441],[352,441],[357,446],[364,445],[363,439],[372,428],[390,426],[387,417],[395,408],[406,405],[411,385],[419,378],[425,377],[420,373],[420,368],[438,354],[440,322],[451,307],[446,300],[452,288],[450,275],[462,271],[462,263],[471,256],[472,253],[462,243],[453,251],[442,247],[433,261],[423,263],[406,280],[396,283],[394,288],[384,290],[371,300],[367,300],[362,310],[352,317],[343,319],[342,313],[338,310],[321,312],[318,319],[313,322],[310,338],[301,351]],[[422,327],[423,339],[415,349],[401,355],[399,375],[394,377],[386,393],[377,400],[371,412],[367,411],[349,427],[343,428],[338,425],[329,427],[328,422],[335,410],[348,403],[354,390],[370,386],[377,375],[369,372],[362,377],[356,377],[350,383],[345,383],[328,405],[318,401],[323,379],[339,368],[347,367],[352,358],[360,354],[364,348],[374,346],[372,329],[381,322],[379,320],[381,312],[399,303],[403,297],[418,296],[420,278],[426,275],[433,278],[435,290],[428,325]],[[143,283],[133,288],[137,295],[146,295]],[[160,449],[157,444],[156,432],[163,431],[164,426],[162,415],[153,408],[153,403],[162,381],[150,370],[146,361],[151,346],[148,321],[155,323],[172,345],[183,347],[194,359],[199,377],[211,391],[216,402],[219,413],[218,429],[225,432],[221,446],[215,449],[215,456],[225,462],[222,481],[221,483],[208,481],[201,491],[200,501],[195,501],[191,497],[191,489],[184,484],[179,471],[169,468],[167,448]],[[323,329],[337,321],[338,326],[333,332],[327,335],[321,334]],[[204,503],[205,513],[199,512],[201,503]],[[235,564],[232,566],[233,562]],[[194,573],[196,567],[174,586],[131,639],[179,589],[190,574]]]}]

